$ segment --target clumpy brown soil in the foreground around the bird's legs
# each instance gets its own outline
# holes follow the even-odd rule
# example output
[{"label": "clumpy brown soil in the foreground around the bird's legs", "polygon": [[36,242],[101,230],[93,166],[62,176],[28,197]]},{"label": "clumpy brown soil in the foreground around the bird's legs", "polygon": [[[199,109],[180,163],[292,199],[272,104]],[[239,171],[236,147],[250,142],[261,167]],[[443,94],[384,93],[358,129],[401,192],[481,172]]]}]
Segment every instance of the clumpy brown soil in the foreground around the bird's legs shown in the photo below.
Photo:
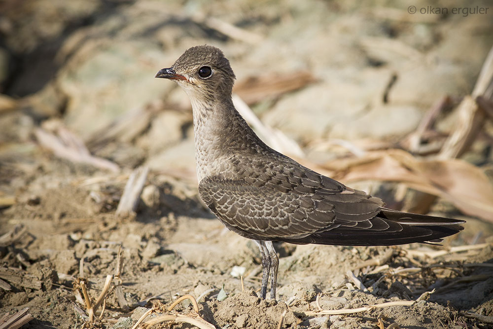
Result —
[{"label": "clumpy brown soil in the foreground around the bird's legs", "polygon": [[[467,219],[465,230],[443,247],[281,244],[278,301],[261,300],[255,293],[260,286],[256,246],[211,216],[199,202],[194,183],[152,174],[149,184],[159,192],[153,207],[142,202],[135,217],[117,218],[114,211],[125,175],[100,176],[36,152],[28,158],[30,174],[18,179],[29,183],[19,202],[3,209],[1,219],[1,233],[17,225],[23,225],[24,233],[0,249],[2,269],[15,270],[18,276],[0,275],[11,285],[10,291],[0,290],[0,311],[29,307],[35,319],[25,328],[81,328],[87,319],[75,310],[75,305],[84,305],[78,304],[74,288],[85,281],[94,301],[106,275],[115,274],[120,247],[124,267],[121,282],[113,279],[112,287],[121,285],[127,304],[121,305],[110,291],[96,327],[132,328],[146,308],[155,307],[151,317],[170,314],[165,306],[191,294],[200,296],[199,315],[216,328],[277,328],[282,316],[281,328],[378,328],[380,318],[385,328],[392,323],[400,328],[491,328],[490,224]],[[484,232],[479,239],[478,231]],[[455,252],[454,246],[471,247],[472,239],[474,248]],[[442,256],[433,255],[444,250]],[[244,288],[241,279],[232,276],[233,266],[244,267]],[[348,271],[369,290],[355,286]],[[218,299],[221,289],[227,294],[223,300]],[[432,289],[428,300],[412,306],[307,315],[319,308],[416,300]],[[185,301],[171,313],[189,315],[193,310]]]}]

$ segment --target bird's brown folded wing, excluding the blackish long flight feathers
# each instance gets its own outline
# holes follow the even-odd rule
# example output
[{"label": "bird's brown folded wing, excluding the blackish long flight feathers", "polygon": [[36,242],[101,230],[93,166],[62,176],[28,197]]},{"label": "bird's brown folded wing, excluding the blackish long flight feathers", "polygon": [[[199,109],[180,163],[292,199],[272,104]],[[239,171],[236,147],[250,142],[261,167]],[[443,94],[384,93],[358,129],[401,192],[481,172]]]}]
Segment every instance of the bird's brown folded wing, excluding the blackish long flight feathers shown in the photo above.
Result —
[{"label": "bird's brown folded wing, excluding the blackish long flight feathers", "polygon": [[339,226],[379,228],[376,224],[380,222],[372,224],[371,219],[379,213],[380,204],[364,192],[321,186],[309,193],[314,182],[293,182],[288,190],[273,188],[272,180],[268,184],[259,182],[257,186],[245,180],[211,176],[200,182],[199,193],[229,228],[258,240],[303,238]]}]

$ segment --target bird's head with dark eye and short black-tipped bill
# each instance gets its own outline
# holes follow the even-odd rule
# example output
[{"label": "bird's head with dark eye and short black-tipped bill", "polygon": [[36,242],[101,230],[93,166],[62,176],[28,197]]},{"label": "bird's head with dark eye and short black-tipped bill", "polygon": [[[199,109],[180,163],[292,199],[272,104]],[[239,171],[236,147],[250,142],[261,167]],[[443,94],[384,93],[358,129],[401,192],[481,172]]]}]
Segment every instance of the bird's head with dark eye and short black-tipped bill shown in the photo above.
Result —
[{"label": "bird's head with dark eye and short black-tipped bill", "polygon": [[160,70],[155,77],[176,81],[193,104],[231,99],[235,73],[220,49],[203,45],[187,49],[171,68]]}]

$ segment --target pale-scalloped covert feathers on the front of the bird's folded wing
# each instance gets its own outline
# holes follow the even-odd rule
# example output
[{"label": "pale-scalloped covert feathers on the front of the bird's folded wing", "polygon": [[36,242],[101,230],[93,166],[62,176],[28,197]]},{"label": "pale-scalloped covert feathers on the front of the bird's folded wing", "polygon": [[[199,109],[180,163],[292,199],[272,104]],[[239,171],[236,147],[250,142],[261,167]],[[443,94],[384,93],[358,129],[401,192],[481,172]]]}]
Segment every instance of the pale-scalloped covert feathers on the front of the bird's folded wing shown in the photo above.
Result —
[{"label": "pale-scalloped covert feathers on the front of the bird's folded wing", "polygon": [[206,177],[199,183],[199,194],[226,226],[258,240],[304,237],[334,221],[331,205],[316,209],[309,196],[253,186],[245,181]]}]

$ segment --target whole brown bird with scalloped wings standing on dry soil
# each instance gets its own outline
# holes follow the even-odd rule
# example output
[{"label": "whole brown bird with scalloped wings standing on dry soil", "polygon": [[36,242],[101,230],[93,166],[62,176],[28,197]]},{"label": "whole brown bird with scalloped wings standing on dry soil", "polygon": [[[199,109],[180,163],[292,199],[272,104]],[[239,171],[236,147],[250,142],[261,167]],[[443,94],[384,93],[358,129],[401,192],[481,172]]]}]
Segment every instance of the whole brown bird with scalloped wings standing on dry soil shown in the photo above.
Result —
[{"label": "whole brown bird with scalloped wings standing on dry soil", "polygon": [[257,244],[263,299],[269,277],[270,298],[276,299],[275,241],[390,246],[440,242],[463,229],[463,220],[385,208],[380,198],[267,146],[235,109],[236,76],[217,47],[191,47],[155,77],[175,81],[190,99],[200,198],[228,229]]}]

